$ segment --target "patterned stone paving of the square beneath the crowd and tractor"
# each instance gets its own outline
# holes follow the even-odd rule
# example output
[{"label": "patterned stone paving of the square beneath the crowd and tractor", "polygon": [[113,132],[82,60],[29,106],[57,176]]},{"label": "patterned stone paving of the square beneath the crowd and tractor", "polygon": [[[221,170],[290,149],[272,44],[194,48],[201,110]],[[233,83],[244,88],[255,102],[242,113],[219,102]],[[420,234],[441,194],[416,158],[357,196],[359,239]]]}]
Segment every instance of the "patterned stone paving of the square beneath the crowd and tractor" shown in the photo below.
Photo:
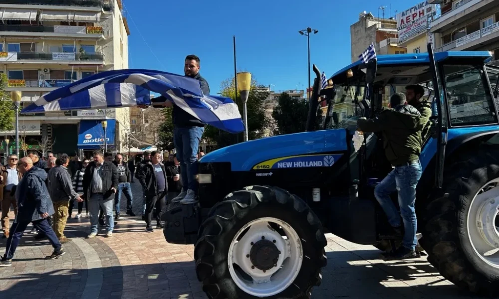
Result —
[{"label": "patterned stone paving of the square beneath the crowd and tractor", "polygon": [[[0,268],[0,298],[5,299],[205,299],[196,279],[194,247],[168,244],[160,230],[145,232],[142,189],[132,186],[136,217],[122,216],[112,238],[100,228],[94,239],[89,219],[68,219],[66,255],[52,261],[48,241],[25,234],[12,267]],[[122,197],[122,213],[126,198]],[[73,210],[73,216],[75,215]],[[12,215],[13,218],[13,215]],[[31,229],[29,226],[26,233]],[[327,235],[328,265],[312,299],[476,298],[460,292],[426,260],[384,262],[372,246]],[[0,239],[1,253],[5,239]]]}]

